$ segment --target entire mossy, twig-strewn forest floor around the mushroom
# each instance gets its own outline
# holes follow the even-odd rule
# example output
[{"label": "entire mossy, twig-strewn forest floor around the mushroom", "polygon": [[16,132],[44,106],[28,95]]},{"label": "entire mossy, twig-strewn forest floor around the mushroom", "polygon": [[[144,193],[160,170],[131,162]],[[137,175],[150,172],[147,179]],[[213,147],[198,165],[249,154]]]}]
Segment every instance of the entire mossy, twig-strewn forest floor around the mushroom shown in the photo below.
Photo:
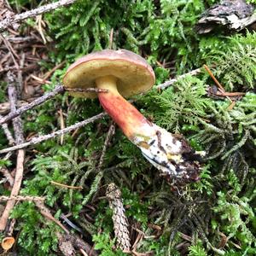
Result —
[{"label": "entire mossy, twig-strewn forest floor around the mushroom", "polygon": [[[199,34],[214,0],[47,3],[0,0],[0,253],[254,255],[255,22]],[[205,153],[198,182],[160,173],[98,100],[63,87],[101,49],[153,67],[132,104]]]}]

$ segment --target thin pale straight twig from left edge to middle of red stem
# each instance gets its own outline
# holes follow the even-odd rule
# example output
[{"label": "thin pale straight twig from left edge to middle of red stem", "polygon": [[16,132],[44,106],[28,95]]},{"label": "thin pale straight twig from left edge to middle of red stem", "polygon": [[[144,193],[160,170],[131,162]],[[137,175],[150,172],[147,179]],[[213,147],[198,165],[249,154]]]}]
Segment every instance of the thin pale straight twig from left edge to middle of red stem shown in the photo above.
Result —
[{"label": "thin pale straight twig from left edge to middle of red stem", "polygon": [[84,121],[79,122],[79,123],[77,123],[75,125],[68,126],[65,129],[54,131],[54,132],[52,132],[50,134],[43,135],[43,136],[40,136],[40,137],[33,137],[32,140],[27,142],[27,143],[21,143],[21,144],[18,144],[16,146],[14,146],[14,147],[4,148],[4,149],[0,150],[0,154],[8,153],[10,151],[14,151],[14,150],[17,150],[17,149],[20,149],[20,148],[26,148],[26,147],[31,146],[31,145],[42,143],[42,142],[44,142],[46,140],[49,140],[50,138],[57,137],[57,136],[59,136],[61,134],[73,131],[73,130],[75,130],[75,129],[79,128],[79,127],[82,127],[84,125],[88,125],[90,123],[93,123],[97,119],[102,119],[102,117],[105,116],[105,115],[107,115],[107,113],[103,113],[102,112],[102,113],[99,113],[99,114],[91,117],[90,119],[85,119]]}]

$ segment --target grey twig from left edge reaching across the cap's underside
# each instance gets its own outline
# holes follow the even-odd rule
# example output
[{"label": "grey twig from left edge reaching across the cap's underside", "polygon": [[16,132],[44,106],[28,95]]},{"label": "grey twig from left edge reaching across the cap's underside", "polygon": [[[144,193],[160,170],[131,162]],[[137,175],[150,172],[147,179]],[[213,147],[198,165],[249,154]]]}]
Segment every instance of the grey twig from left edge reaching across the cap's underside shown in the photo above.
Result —
[{"label": "grey twig from left edge reaching across the cap's underside", "polygon": [[50,91],[49,93],[45,94],[44,96],[38,97],[31,103],[26,104],[18,108],[15,112],[9,113],[8,115],[4,116],[0,119],[0,125],[8,122],[10,119],[14,119],[15,117],[19,116],[22,113],[25,113],[27,110],[35,108],[44,102],[48,101],[49,99],[55,97],[56,95],[64,92],[64,91],[72,91],[72,92],[108,92],[108,90],[96,89],[96,88],[87,88],[87,89],[67,89],[63,85],[59,84],[55,87],[54,90]]}]

